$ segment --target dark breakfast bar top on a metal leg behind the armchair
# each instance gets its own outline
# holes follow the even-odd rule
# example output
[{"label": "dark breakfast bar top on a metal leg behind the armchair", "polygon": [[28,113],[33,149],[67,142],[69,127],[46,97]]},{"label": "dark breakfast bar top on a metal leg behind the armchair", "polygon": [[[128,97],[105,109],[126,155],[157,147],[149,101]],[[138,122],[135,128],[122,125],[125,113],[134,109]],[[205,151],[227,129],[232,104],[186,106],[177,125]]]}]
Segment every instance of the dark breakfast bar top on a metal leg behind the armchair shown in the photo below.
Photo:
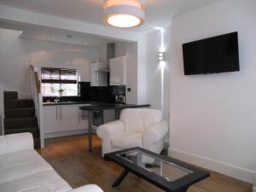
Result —
[{"label": "dark breakfast bar top on a metal leg behind the armchair", "polygon": [[124,109],[124,108],[148,108],[149,104],[145,105],[132,105],[132,104],[107,104],[107,103],[96,103],[80,107],[80,110],[85,111],[102,111],[108,109]]}]

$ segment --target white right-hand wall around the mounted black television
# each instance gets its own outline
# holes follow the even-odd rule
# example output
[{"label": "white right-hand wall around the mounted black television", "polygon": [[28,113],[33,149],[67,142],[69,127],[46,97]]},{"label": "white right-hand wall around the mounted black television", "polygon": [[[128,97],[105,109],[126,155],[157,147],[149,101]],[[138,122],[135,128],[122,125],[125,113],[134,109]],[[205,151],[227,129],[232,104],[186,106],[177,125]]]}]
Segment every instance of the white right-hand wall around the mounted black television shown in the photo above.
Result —
[{"label": "white right-hand wall around the mounted black television", "polygon": [[[225,0],[172,20],[169,154],[253,182],[256,1]],[[182,44],[239,33],[238,73],[183,75]]]}]

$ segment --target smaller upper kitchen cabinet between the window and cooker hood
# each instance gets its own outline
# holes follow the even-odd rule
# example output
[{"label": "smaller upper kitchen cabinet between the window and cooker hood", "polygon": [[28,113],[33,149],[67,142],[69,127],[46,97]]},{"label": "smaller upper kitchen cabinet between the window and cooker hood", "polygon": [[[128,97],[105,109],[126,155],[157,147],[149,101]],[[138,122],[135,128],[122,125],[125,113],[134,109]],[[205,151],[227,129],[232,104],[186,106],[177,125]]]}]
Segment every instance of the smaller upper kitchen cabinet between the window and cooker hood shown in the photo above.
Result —
[{"label": "smaller upper kitchen cabinet between the window and cooker hood", "polygon": [[108,86],[108,73],[105,73],[104,68],[103,62],[90,63],[90,86]]}]

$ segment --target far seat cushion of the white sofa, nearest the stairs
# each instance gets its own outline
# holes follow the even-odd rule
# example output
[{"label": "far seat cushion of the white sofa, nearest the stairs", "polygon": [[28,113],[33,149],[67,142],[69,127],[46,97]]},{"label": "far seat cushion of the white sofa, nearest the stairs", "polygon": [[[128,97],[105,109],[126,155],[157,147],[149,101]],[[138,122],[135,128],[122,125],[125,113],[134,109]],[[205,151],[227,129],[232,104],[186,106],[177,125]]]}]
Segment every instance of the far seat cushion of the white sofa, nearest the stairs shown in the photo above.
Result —
[{"label": "far seat cushion of the white sofa, nearest the stairs", "polygon": [[0,155],[0,184],[46,170],[53,168],[33,149]]}]

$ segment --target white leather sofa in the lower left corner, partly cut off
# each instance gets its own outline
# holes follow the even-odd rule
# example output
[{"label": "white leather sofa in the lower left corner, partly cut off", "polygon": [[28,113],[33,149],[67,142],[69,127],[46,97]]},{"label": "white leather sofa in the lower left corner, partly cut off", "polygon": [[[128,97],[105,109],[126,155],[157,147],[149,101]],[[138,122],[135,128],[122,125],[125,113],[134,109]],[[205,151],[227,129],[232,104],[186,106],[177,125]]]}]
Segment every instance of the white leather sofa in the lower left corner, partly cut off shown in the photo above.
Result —
[{"label": "white leather sofa in the lower left corner, partly cut off", "polygon": [[33,149],[30,133],[0,137],[1,192],[102,192],[89,184],[72,189]]}]

